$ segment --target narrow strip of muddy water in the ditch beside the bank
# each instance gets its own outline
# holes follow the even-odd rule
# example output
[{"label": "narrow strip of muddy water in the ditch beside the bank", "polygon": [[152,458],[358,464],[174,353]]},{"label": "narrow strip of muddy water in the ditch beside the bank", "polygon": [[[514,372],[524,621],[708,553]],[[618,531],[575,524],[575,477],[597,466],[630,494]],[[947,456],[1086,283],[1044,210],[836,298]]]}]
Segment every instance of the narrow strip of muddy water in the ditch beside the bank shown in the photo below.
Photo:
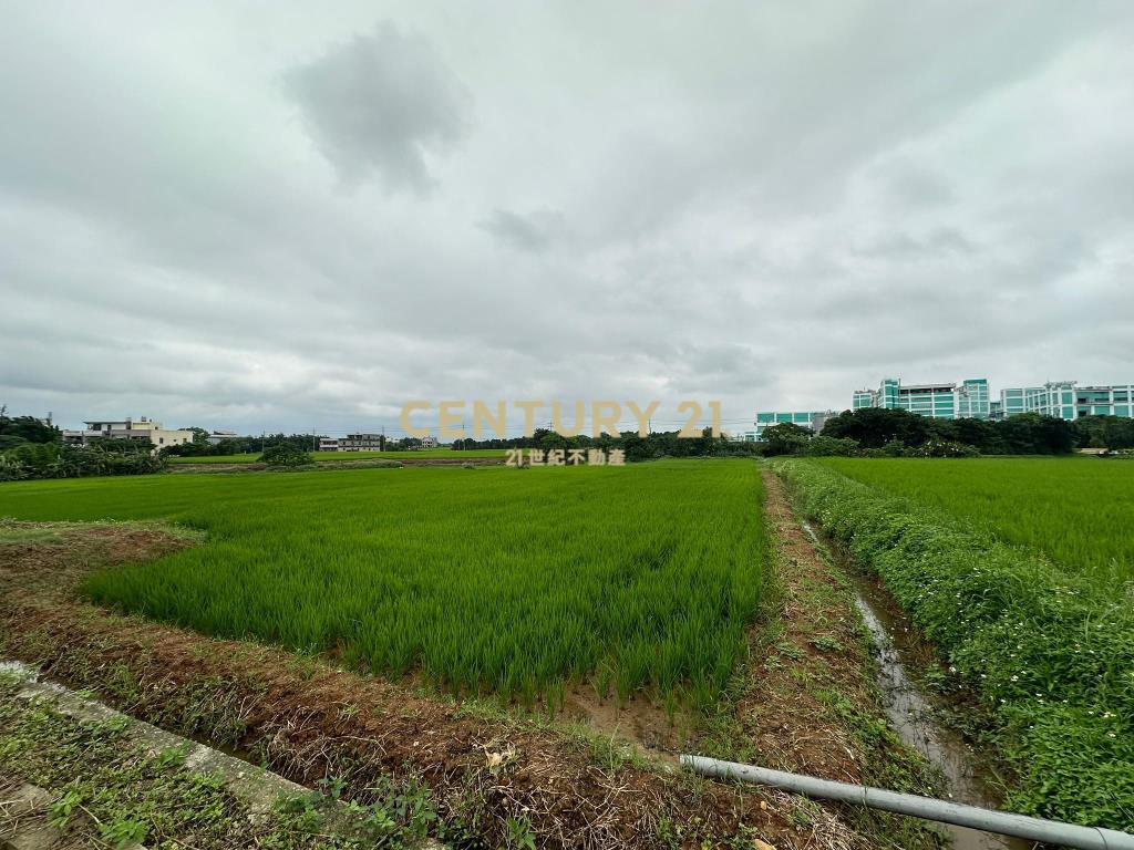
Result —
[{"label": "narrow strip of muddy water in the ditch beside the bank", "polygon": [[[810,524],[804,530],[822,545]],[[894,731],[906,746],[916,749],[940,768],[949,782],[951,799],[970,806],[997,808],[999,798],[988,774],[981,770],[972,748],[950,729],[933,720],[933,704],[909,679],[903,663],[911,644],[907,628],[896,621],[882,592],[850,568],[847,576],[855,585],[855,605],[862,614],[878,649],[878,685]],[[1004,835],[942,824],[955,850],[1029,850],[1032,842]]]}]

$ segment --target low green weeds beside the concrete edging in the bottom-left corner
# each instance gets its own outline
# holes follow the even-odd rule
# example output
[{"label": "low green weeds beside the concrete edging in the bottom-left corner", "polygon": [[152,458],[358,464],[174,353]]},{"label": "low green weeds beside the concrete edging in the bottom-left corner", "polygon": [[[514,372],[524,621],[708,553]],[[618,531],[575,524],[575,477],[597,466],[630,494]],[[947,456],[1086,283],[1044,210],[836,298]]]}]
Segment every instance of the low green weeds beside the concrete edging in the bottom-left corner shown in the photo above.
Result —
[{"label": "low green weeds beside the concrete edging in the bottom-left corner", "polygon": [[76,719],[19,699],[18,690],[15,677],[0,673],[0,773],[50,792],[46,823],[68,831],[67,847],[403,850],[421,847],[426,835],[475,845],[459,821],[441,821],[429,789],[390,779],[341,805],[344,783],[324,779],[311,793],[281,797],[249,818],[248,800],[220,774],[183,770],[188,745],[154,755],[122,717]]}]

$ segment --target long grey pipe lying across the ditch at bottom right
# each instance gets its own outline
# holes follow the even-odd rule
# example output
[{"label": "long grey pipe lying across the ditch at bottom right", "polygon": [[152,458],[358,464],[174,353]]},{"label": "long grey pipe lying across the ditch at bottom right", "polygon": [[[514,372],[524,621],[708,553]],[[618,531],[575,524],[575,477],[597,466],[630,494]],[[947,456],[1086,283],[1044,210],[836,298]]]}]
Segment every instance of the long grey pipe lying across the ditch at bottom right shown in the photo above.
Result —
[{"label": "long grey pipe lying across the ditch at bottom right", "polygon": [[1030,841],[1043,841],[1049,844],[1082,848],[1082,850],[1134,850],[1134,835],[1115,830],[1103,830],[1099,826],[1077,826],[1058,821],[1043,821],[1038,817],[993,811],[976,806],[963,806],[937,800],[932,797],[903,794],[881,788],[832,782],[815,776],[772,771],[736,762],[721,762],[704,756],[683,755],[682,765],[705,776],[772,785],[807,797],[821,797],[828,800],[894,811],[899,815],[912,815],[926,821],[968,826],[983,832],[1015,835]]}]

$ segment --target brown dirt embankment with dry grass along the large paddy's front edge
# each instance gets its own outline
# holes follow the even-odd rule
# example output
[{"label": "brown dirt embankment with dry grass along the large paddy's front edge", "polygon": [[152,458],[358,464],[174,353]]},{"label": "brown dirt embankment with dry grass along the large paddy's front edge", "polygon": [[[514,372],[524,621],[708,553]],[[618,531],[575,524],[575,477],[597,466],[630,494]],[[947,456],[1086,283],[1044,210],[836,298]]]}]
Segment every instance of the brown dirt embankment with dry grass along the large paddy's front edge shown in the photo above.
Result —
[{"label": "brown dirt embankment with dry grass along the large paddy's front edge", "polygon": [[550,848],[760,847],[758,838],[777,848],[872,845],[837,815],[775,791],[699,781],[628,758],[603,739],[75,598],[75,581],[92,567],[187,545],[176,535],[129,525],[6,528],[53,535],[9,535],[0,544],[8,657],[95,689],[156,725],[249,753],[305,784],[336,777],[364,798],[361,790],[383,777],[420,780],[443,816],[493,845],[506,844],[517,823]]}]

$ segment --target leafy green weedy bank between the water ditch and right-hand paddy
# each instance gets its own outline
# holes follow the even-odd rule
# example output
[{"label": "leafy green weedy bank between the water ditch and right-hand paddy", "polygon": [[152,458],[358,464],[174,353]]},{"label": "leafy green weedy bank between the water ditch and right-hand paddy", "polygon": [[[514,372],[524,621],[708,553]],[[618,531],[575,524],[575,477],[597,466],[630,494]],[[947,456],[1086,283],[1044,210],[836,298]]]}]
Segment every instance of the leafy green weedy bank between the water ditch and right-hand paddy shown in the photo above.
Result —
[{"label": "leafy green weedy bank between the water ditch and right-hand paddy", "polygon": [[[822,464],[775,468],[801,509],[879,573],[958,686],[984,702],[1017,773],[1007,805],[1134,830],[1131,592]],[[1074,519],[1052,509],[1049,521]]]}]

